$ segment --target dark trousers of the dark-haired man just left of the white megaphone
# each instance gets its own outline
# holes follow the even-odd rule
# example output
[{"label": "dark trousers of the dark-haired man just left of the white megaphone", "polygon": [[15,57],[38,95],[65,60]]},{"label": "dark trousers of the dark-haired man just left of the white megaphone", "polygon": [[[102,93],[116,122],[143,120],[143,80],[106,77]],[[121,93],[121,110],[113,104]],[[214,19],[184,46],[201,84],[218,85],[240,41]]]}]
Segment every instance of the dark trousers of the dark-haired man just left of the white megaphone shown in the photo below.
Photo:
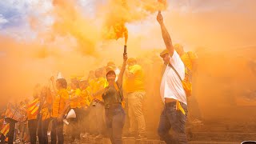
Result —
[{"label": "dark trousers of the dark-haired man just left of the white megaphone", "polygon": [[57,118],[54,118],[52,121],[50,137],[51,137],[52,144],[57,143],[57,137],[58,137],[58,144],[64,143],[63,122],[58,122]]}]

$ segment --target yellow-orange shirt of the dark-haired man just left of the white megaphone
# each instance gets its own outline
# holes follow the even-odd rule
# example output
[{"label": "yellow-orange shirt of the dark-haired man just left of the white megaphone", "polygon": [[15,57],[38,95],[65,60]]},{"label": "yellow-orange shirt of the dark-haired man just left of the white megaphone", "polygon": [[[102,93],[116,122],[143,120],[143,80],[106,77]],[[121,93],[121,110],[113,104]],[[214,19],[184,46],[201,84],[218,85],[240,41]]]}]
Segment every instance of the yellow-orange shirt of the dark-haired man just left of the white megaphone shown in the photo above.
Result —
[{"label": "yellow-orange shirt of the dark-haired man just left of the white megaphone", "polygon": [[58,115],[62,113],[66,105],[66,100],[69,99],[69,93],[66,89],[58,90],[57,95],[54,96],[53,102],[53,118],[58,118]]}]

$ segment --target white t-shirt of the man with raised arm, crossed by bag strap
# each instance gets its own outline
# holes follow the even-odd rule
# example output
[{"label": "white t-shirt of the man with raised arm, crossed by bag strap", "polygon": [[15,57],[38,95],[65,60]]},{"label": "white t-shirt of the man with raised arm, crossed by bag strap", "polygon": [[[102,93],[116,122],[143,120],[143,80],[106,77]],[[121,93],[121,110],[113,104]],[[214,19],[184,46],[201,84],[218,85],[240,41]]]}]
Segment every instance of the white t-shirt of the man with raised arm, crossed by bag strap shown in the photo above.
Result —
[{"label": "white t-shirt of the man with raised arm, crossed by bag strap", "polygon": [[[185,77],[185,66],[175,50],[173,56],[170,57],[170,64],[174,66],[183,80]],[[173,98],[187,105],[186,93],[182,82],[170,66],[166,66],[165,73],[162,75],[160,94],[163,102],[165,102],[165,98]]]}]

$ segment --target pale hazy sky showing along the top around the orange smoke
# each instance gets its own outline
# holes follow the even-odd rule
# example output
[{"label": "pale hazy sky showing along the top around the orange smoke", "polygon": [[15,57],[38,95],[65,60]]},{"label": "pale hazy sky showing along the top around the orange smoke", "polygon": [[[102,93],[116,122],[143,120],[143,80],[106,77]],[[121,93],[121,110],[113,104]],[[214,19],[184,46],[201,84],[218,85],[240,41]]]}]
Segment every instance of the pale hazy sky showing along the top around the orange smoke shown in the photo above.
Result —
[{"label": "pale hazy sky showing along the top around the orange smoke", "polygon": [[[90,14],[91,17],[94,17],[96,5],[104,2],[106,0],[78,0],[82,12],[87,16]],[[194,14],[198,17],[209,13],[219,14],[219,16],[231,14],[234,18],[251,18],[255,22],[256,2],[254,0],[169,0],[168,4],[168,13]],[[30,21],[27,18],[31,15],[40,17],[40,25],[50,26],[54,22],[54,18],[47,14],[50,10],[52,10],[51,0],[2,0],[0,1],[0,34],[11,35],[15,38],[35,38],[36,34],[34,30],[31,30]],[[142,22],[144,25],[150,25],[150,21],[152,18]],[[132,32],[137,32],[141,28],[138,23],[129,26]]]}]

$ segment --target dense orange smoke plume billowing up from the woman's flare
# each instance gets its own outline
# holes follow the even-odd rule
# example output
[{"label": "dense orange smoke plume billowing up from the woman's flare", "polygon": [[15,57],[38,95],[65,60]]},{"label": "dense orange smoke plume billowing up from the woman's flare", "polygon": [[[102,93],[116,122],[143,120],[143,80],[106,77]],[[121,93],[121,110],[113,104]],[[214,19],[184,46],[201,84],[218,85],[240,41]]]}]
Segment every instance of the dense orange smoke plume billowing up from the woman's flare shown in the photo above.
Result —
[{"label": "dense orange smoke plume billowing up from the woman's flare", "polygon": [[166,10],[166,0],[110,0],[109,9],[106,10],[106,22],[103,26],[103,38],[128,39],[126,23],[136,22],[158,10]]}]

